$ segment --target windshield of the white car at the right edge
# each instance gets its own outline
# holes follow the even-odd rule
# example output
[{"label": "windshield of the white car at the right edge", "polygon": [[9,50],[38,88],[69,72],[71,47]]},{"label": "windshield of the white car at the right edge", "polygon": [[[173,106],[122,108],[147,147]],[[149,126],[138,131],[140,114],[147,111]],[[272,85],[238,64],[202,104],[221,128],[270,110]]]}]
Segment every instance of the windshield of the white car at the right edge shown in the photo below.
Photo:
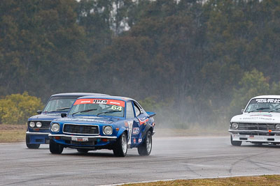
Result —
[{"label": "windshield of the white car at the right edge", "polygon": [[262,98],[253,99],[245,112],[280,112],[280,99]]}]

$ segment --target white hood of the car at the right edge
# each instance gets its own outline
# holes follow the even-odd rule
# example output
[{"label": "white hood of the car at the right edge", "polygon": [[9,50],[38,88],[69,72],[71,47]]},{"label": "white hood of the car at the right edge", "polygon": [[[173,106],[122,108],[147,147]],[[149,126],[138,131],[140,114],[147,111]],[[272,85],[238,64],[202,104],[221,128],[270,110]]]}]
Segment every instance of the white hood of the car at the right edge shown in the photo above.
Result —
[{"label": "white hood of the car at the right edge", "polygon": [[236,123],[280,123],[280,113],[251,112],[232,117],[230,122]]}]

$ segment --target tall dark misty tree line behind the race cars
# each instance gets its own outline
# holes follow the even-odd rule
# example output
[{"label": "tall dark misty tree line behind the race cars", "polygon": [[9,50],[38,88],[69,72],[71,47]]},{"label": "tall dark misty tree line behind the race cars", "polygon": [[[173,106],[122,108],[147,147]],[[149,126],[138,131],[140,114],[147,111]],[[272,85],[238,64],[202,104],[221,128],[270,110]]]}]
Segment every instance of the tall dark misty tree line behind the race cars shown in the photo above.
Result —
[{"label": "tall dark misty tree line behind the race cars", "polygon": [[0,95],[124,95],[160,125],[227,127],[279,94],[279,33],[277,0],[2,0]]}]

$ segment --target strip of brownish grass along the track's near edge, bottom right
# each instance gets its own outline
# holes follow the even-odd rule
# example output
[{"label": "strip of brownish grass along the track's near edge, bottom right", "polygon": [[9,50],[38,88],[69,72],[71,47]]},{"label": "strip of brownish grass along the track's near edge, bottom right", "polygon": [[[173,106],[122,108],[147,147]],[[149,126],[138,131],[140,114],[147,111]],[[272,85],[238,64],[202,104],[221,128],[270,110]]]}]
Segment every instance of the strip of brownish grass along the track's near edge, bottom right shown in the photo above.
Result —
[{"label": "strip of brownish grass along the track's near edge, bottom right", "polygon": [[158,186],[158,185],[244,185],[244,186],[272,186],[280,185],[280,175],[267,175],[267,176],[242,176],[242,177],[231,177],[231,178],[213,178],[213,179],[194,179],[194,180],[172,180],[172,181],[159,181],[153,183],[134,183],[125,184],[133,186]]}]

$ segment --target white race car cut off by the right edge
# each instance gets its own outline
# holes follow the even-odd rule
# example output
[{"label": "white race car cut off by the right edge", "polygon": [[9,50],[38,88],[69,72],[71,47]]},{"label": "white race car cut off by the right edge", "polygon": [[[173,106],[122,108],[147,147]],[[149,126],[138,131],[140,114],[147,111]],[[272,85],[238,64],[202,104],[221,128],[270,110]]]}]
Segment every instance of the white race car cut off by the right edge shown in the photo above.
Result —
[{"label": "white race car cut off by the right edge", "polygon": [[230,120],[232,146],[280,144],[280,95],[260,95],[248,102],[242,114]]}]

